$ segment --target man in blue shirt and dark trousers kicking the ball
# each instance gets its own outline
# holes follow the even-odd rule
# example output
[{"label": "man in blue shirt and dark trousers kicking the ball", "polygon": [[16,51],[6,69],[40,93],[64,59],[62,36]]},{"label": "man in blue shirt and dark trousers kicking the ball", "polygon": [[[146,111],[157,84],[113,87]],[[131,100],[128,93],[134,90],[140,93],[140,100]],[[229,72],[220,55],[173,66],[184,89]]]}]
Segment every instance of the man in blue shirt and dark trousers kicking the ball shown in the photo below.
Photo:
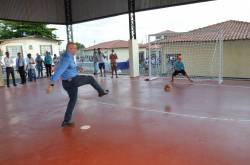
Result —
[{"label": "man in blue shirt and dark trousers kicking the ball", "polygon": [[77,67],[74,61],[76,51],[75,43],[69,42],[66,46],[66,52],[61,56],[55,73],[50,78],[50,85],[47,89],[47,92],[51,93],[56,80],[60,77],[62,79],[62,86],[68,93],[69,102],[62,122],[62,127],[74,125],[71,121],[71,116],[77,100],[78,87],[90,84],[98,92],[99,97],[109,93],[108,90],[102,89],[92,76],[78,75],[77,71],[83,72],[84,70],[83,68]]}]

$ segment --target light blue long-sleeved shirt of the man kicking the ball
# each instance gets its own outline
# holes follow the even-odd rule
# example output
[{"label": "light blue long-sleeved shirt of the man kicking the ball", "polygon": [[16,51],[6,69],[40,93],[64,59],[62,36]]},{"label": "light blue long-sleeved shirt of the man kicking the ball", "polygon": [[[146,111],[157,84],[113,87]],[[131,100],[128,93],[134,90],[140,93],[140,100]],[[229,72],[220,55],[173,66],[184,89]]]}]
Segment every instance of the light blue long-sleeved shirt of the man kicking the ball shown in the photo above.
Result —
[{"label": "light blue long-sleeved shirt of the man kicking the ball", "polygon": [[59,77],[61,77],[62,80],[68,80],[77,75],[77,65],[75,64],[74,57],[66,52],[61,56],[60,62],[56,67],[55,73],[51,76],[50,81],[54,84]]}]

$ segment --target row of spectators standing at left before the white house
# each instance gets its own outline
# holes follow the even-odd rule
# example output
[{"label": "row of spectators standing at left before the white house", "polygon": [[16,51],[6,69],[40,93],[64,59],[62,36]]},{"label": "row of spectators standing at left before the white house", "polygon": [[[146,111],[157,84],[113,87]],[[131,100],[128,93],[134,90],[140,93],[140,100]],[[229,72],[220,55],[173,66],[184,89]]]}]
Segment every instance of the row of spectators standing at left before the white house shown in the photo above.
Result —
[{"label": "row of spectators standing at left before the white house", "polygon": [[[14,60],[10,57],[9,52],[6,52],[4,65],[6,68],[7,87],[10,87],[10,76],[12,77],[13,86],[17,86],[14,64],[17,72],[20,74],[21,84],[26,84],[26,76],[28,76],[28,81],[36,81],[36,79],[43,78],[43,66],[46,68],[47,77],[51,77],[52,62],[56,66],[59,63],[59,58],[54,54],[54,58],[52,59],[49,52],[45,53],[44,59],[39,53],[37,53],[35,59],[28,53],[25,59],[19,52],[17,53],[16,63],[14,63]],[[36,76],[36,70],[38,76]]]}]

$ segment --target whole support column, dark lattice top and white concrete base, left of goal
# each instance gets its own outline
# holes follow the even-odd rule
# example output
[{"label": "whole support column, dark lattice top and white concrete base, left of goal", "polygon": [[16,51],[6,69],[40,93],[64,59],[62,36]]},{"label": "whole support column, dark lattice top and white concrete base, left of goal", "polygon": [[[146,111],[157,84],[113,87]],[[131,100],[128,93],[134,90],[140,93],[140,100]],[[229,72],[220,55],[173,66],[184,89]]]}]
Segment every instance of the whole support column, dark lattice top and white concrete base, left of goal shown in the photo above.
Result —
[{"label": "whole support column, dark lattice top and white concrete base, left of goal", "polygon": [[135,0],[128,0],[129,14],[129,75],[138,77],[139,73],[139,47],[136,40],[136,21],[135,21]]}]

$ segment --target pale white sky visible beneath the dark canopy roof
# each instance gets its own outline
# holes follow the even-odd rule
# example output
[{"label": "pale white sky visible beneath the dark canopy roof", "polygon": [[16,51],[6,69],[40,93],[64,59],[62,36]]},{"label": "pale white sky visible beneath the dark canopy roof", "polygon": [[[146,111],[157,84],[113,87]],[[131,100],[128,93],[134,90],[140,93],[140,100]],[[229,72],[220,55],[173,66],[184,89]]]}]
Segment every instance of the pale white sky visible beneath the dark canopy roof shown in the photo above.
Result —
[{"label": "pale white sky visible beneath the dark canopy roof", "polygon": [[[162,8],[136,13],[136,31],[139,43],[145,43],[147,35],[164,30],[185,32],[228,20],[250,22],[249,0],[216,0],[198,4]],[[66,44],[63,25],[49,25],[58,30],[55,34]],[[111,40],[128,40],[128,15],[120,15],[73,25],[74,41],[86,47]]]}]

